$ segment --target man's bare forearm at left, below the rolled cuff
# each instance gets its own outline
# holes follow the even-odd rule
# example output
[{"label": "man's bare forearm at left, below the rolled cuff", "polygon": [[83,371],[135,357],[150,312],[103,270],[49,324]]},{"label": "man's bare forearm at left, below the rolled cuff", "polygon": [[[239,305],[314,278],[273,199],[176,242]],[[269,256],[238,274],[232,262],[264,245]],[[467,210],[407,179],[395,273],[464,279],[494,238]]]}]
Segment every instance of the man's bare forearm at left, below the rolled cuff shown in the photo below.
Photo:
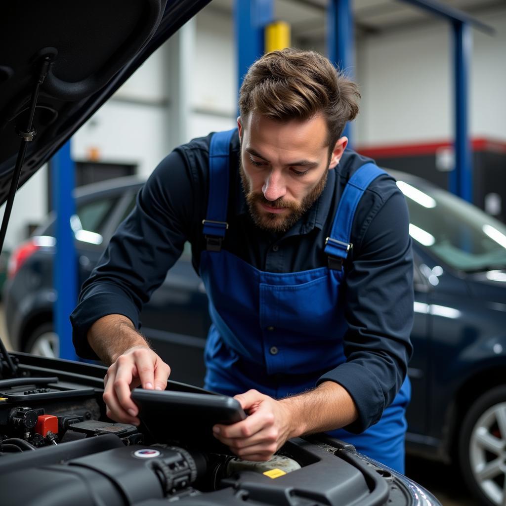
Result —
[{"label": "man's bare forearm at left, below the rolled cuff", "polygon": [[134,346],[149,347],[132,321],[123,315],[107,315],[98,319],[88,330],[87,338],[93,351],[107,365]]}]

